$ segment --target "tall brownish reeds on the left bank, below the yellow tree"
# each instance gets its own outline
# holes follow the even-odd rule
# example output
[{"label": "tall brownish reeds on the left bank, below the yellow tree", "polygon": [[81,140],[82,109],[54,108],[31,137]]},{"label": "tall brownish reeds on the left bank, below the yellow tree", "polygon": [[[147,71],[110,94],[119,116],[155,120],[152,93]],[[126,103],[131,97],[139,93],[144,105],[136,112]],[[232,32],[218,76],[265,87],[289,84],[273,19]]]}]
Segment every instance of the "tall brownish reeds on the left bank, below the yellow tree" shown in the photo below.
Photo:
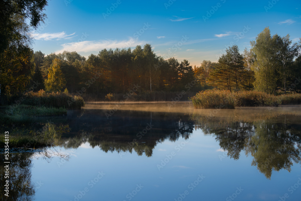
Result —
[{"label": "tall brownish reeds on the left bank, below the yellow tree", "polygon": [[72,95],[64,92],[47,93],[44,90],[38,92],[28,92],[25,94],[22,104],[35,105],[66,109],[80,109],[85,105],[85,101],[81,96]]}]

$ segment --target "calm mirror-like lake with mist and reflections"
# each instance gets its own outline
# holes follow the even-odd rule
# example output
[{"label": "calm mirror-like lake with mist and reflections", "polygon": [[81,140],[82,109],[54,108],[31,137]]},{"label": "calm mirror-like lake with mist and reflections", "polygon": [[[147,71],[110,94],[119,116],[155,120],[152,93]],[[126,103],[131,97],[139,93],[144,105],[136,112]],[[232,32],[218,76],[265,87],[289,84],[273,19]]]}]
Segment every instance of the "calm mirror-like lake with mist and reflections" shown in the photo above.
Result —
[{"label": "calm mirror-like lake with mist and reflections", "polygon": [[[70,132],[55,132],[67,124]],[[52,130],[54,146],[10,153],[12,200],[301,197],[300,106],[88,102],[34,129]]]}]

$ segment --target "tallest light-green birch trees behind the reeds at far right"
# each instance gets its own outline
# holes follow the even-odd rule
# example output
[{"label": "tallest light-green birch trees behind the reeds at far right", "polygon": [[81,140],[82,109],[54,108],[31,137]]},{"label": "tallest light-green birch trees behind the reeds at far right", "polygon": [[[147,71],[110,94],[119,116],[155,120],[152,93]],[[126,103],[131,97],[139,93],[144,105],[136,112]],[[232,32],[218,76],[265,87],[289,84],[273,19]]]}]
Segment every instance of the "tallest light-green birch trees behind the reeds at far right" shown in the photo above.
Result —
[{"label": "tallest light-green birch trees behind the reeds at far right", "polygon": [[283,87],[286,93],[287,86],[298,73],[294,59],[300,54],[300,44],[292,44],[289,35],[271,36],[269,28],[266,27],[258,34],[256,41],[251,41],[251,46],[251,51],[255,55],[252,64],[255,89],[274,93],[278,86]]}]

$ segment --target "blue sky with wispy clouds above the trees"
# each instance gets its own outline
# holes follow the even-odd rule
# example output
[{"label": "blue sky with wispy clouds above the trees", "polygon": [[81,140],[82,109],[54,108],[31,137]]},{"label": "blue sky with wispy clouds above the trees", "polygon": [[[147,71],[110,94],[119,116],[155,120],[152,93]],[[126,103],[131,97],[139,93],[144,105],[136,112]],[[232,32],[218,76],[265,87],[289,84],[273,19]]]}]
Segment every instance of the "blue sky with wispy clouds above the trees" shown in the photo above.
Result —
[{"label": "blue sky with wispy clouds above the trees", "polygon": [[33,31],[33,50],[64,50],[88,58],[104,48],[135,49],[150,43],[158,56],[200,66],[225,48],[250,48],[265,27],[271,34],[301,37],[301,1],[49,1],[47,19]]}]

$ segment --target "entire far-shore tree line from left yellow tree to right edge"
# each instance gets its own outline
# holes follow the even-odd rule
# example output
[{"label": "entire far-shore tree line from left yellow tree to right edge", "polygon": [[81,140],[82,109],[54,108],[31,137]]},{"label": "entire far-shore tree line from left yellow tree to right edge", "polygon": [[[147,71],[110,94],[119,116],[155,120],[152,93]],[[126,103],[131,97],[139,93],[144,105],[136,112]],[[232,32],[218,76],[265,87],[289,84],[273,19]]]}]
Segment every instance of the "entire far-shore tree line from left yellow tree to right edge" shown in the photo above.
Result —
[{"label": "entire far-shore tree line from left yellow tree to right edge", "polygon": [[[34,62],[36,78],[48,91],[67,88],[74,93],[82,86],[91,86],[88,93],[122,93],[134,84],[148,91],[181,91],[194,80],[194,91],[219,88],[230,92],[300,92],[300,42],[292,43],[289,35],[271,36],[266,27],[250,44],[251,48],[245,48],[242,54],[233,45],[218,62],[204,60],[194,68],[186,59],[179,62],[157,56],[150,44],[134,50],[103,49],[88,59],[77,52],[45,56],[39,51],[34,53]],[[97,79],[93,78],[95,74],[99,75]]]}]

